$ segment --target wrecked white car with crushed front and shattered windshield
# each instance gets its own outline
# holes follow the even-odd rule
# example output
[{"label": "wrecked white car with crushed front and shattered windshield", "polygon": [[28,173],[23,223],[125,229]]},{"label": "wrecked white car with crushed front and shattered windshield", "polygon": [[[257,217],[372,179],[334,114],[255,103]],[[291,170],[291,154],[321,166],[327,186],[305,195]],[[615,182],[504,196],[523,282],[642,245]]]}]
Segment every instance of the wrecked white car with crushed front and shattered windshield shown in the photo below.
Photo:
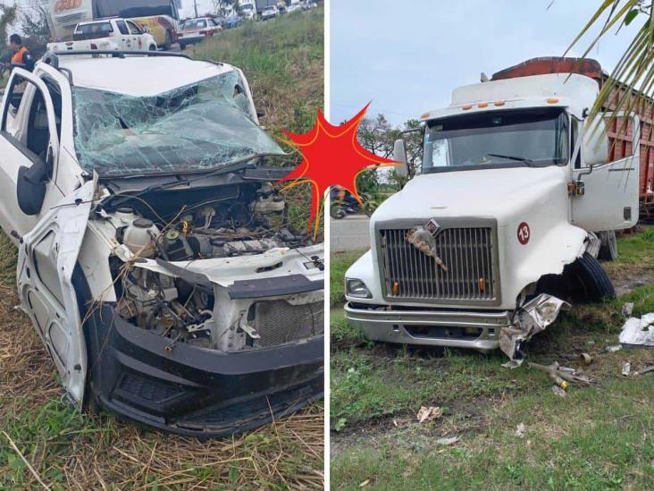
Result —
[{"label": "wrecked white car with crushed front and shattered windshield", "polygon": [[2,114],[0,224],[73,402],[224,436],[322,396],[323,244],[239,69],[49,53]]}]

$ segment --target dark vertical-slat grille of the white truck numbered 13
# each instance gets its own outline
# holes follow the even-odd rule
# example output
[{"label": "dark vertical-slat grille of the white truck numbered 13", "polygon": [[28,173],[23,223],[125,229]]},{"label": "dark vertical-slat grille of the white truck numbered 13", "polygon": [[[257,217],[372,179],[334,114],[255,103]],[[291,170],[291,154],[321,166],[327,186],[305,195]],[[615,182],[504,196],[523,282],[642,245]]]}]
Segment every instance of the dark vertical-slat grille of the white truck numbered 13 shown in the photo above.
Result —
[{"label": "dark vertical-slat grille of the white truck numbered 13", "polygon": [[438,257],[407,241],[415,229],[379,231],[381,267],[386,296],[432,301],[497,300],[491,227],[446,228],[434,237]]}]

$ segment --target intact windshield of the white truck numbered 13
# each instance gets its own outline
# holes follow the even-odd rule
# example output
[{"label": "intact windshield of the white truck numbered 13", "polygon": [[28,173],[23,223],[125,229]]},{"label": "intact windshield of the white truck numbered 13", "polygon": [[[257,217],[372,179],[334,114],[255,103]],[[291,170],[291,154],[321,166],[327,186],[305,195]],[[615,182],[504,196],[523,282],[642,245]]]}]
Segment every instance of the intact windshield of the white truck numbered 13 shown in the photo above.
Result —
[{"label": "intact windshield of the white truck numbered 13", "polygon": [[568,118],[562,109],[491,111],[427,123],[423,172],[486,166],[565,165]]}]

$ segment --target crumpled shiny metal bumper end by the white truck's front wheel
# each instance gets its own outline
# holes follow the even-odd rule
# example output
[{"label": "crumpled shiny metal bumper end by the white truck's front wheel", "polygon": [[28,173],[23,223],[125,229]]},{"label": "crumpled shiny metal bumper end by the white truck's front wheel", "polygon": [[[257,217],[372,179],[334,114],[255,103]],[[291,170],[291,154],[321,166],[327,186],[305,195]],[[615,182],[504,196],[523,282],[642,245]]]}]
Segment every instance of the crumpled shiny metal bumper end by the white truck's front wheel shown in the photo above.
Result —
[{"label": "crumpled shiny metal bumper end by the white truck's front wheel", "polygon": [[503,327],[499,333],[499,348],[511,360],[524,358],[523,344],[534,334],[544,331],[554,322],[561,310],[570,309],[570,304],[557,297],[541,293],[535,299],[516,309],[511,326]]}]

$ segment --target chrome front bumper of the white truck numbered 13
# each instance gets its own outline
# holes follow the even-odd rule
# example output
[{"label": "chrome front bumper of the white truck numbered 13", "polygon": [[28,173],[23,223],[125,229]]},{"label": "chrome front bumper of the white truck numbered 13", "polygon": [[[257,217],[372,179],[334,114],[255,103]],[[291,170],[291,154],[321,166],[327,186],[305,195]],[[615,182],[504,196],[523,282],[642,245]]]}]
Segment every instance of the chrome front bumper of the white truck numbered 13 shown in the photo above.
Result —
[{"label": "chrome front bumper of the white truck numbered 13", "polygon": [[489,352],[499,348],[499,333],[511,325],[509,310],[386,309],[348,302],[345,317],[367,339],[384,343],[448,346]]}]

